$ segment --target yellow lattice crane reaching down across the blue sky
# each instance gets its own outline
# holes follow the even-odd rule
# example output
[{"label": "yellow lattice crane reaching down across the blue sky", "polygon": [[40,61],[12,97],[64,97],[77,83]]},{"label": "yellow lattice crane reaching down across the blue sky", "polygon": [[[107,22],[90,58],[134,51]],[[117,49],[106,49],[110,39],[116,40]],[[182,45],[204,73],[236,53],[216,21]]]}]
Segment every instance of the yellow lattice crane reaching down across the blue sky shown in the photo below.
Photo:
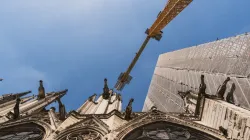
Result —
[{"label": "yellow lattice crane reaching down across the blue sky", "polygon": [[157,41],[161,40],[162,29],[172,21],[182,10],[184,10],[193,0],[168,0],[165,8],[158,14],[157,19],[153,25],[146,30],[147,37],[141,45],[139,51],[136,53],[133,61],[130,63],[126,72],[121,73],[118,77],[118,81],[115,85],[117,90],[122,90],[126,84],[129,84],[132,77],[129,75],[141,53],[146,47],[150,38],[154,38]]}]

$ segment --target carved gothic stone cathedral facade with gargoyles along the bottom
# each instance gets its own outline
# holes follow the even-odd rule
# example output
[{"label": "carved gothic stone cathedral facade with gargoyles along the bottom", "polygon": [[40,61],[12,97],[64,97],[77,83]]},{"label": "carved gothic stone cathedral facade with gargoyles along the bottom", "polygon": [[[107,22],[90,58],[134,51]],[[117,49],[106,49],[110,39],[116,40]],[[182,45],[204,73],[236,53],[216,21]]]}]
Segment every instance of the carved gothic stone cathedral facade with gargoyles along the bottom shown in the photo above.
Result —
[{"label": "carved gothic stone cathedral facade with gargoyles along the bottom", "polygon": [[[233,105],[226,110],[223,106],[228,103],[206,96],[202,77],[200,92],[193,93],[194,98],[180,93],[185,103],[193,106],[185,113],[164,113],[154,106],[147,112],[134,112],[133,99],[123,112],[122,96],[108,88],[107,79],[99,97],[94,94],[77,110],[66,112],[60,99],[68,90],[45,93],[40,81],[36,96],[24,96],[28,91],[1,97],[0,140],[249,140],[249,129],[245,131],[249,122],[239,118],[239,114],[249,112]],[[45,108],[55,101],[58,111]],[[225,118],[215,106],[222,107]]]}]

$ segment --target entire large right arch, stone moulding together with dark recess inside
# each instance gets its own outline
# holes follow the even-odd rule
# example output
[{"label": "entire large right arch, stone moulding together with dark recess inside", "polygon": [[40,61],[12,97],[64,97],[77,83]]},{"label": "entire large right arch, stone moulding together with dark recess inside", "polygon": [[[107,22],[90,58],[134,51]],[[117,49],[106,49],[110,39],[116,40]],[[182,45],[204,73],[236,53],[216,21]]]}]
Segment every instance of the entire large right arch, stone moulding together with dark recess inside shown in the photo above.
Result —
[{"label": "entire large right arch, stone moulding together with dark recess inside", "polygon": [[[175,129],[177,128],[177,129]],[[186,140],[185,135],[190,135],[196,140],[220,140],[225,139],[218,130],[206,127],[204,125],[179,119],[169,113],[163,113],[158,110],[152,110],[125,125],[116,129],[115,140],[154,140],[160,139],[154,134],[165,137],[166,140],[176,139],[176,137]],[[151,136],[143,137],[143,136]],[[176,135],[171,138],[170,135]],[[179,136],[180,135],[180,136]],[[182,135],[182,136],[181,136]],[[198,137],[195,137],[195,136]],[[186,136],[188,138],[188,136]],[[163,139],[164,140],[164,139]],[[178,140],[178,139],[177,139]],[[188,140],[188,139],[187,139]]]}]

